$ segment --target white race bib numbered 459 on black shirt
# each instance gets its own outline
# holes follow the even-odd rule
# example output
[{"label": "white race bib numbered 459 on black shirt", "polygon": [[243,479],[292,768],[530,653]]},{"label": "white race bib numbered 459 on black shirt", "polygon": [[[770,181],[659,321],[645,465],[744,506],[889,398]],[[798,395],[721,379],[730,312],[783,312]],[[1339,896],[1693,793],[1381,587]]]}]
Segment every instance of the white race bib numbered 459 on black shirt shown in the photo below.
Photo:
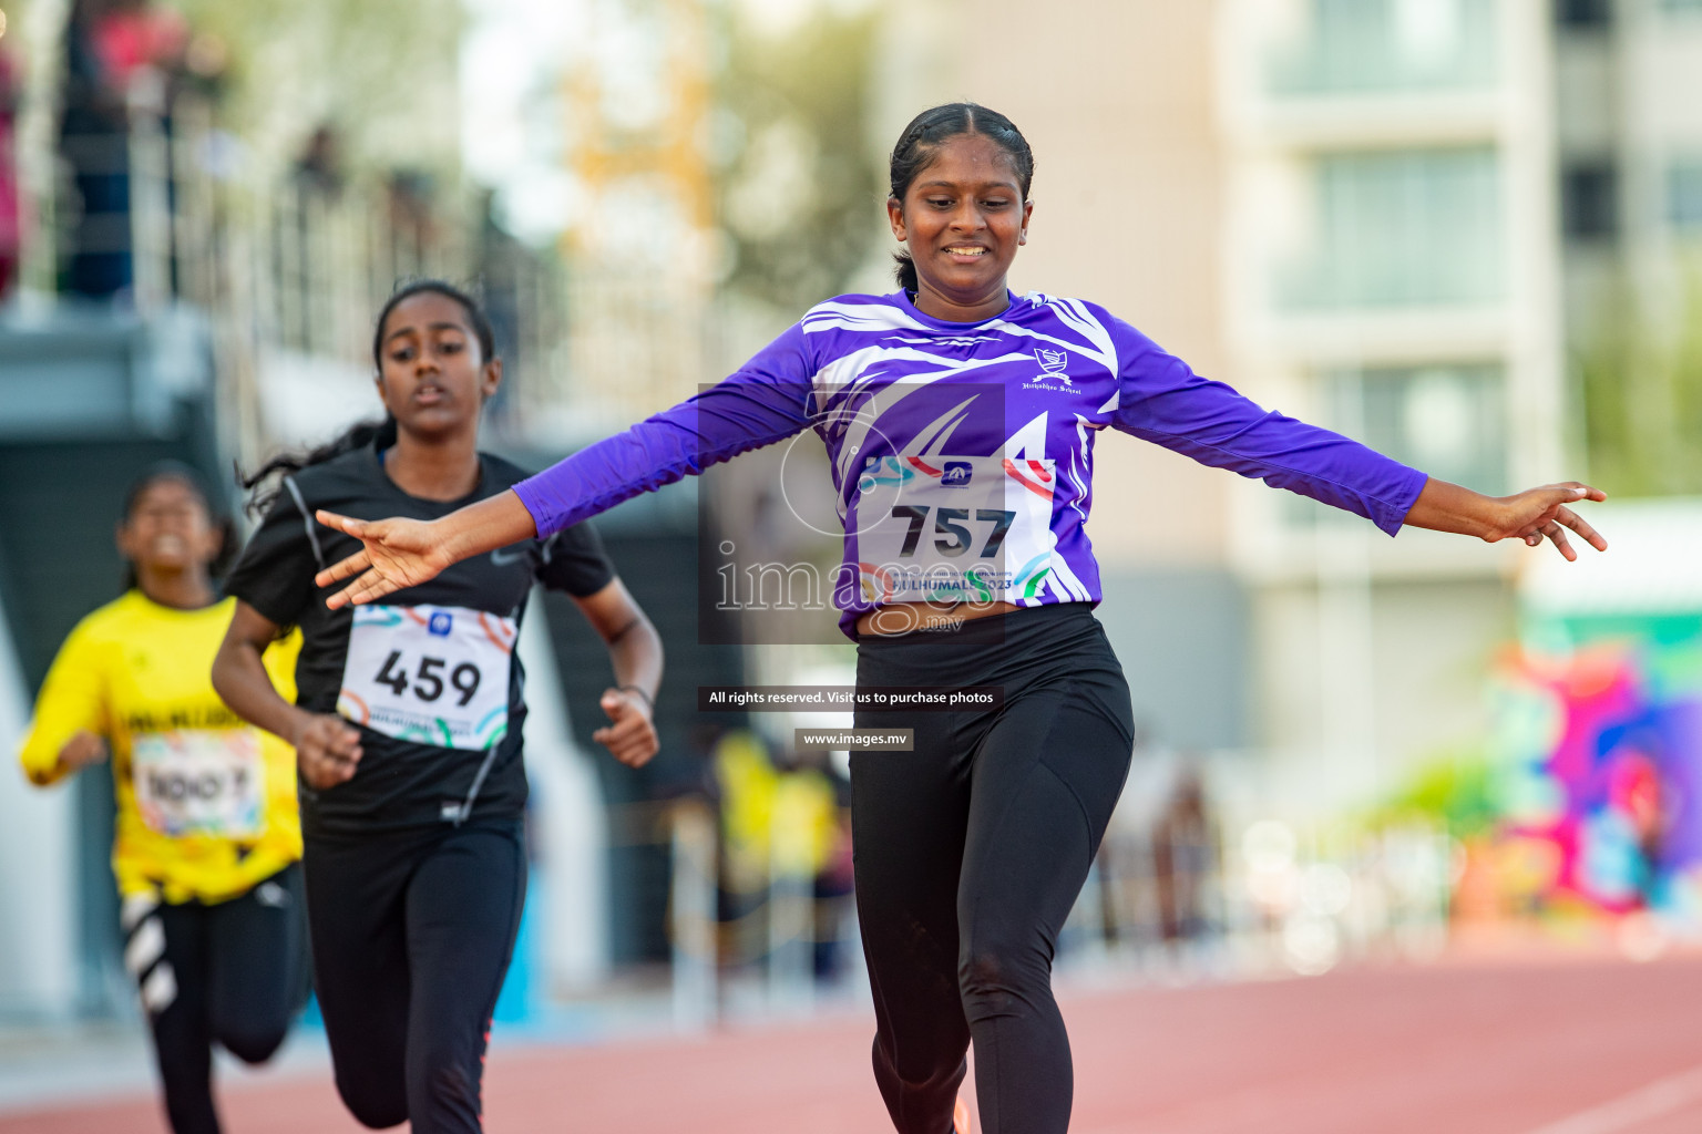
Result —
[{"label": "white race bib numbered 459 on black shirt", "polygon": [[514,619],[466,607],[356,607],[337,712],[397,740],[492,748],[517,636]]}]

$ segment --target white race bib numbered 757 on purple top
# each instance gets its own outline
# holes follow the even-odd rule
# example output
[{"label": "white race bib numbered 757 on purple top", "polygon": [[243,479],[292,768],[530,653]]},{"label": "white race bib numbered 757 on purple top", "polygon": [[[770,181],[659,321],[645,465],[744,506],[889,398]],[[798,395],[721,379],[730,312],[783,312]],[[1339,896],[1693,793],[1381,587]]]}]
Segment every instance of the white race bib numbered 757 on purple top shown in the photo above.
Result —
[{"label": "white race bib numbered 757 on purple top", "polygon": [[1016,602],[1052,570],[1050,459],[877,457],[858,479],[868,602]]}]

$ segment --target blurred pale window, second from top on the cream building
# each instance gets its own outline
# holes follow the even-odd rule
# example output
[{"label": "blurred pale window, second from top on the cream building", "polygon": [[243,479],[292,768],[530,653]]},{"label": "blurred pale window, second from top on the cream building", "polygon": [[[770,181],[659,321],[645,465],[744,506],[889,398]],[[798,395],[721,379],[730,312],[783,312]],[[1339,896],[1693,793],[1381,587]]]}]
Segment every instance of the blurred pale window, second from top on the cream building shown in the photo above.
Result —
[{"label": "blurred pale window, second from top on the cream building", "polygon": [[1278,308],[1459,306],[1501,298],[1494,150],[1324,155],[1316,185],[1316,248],[1278,279]]}]

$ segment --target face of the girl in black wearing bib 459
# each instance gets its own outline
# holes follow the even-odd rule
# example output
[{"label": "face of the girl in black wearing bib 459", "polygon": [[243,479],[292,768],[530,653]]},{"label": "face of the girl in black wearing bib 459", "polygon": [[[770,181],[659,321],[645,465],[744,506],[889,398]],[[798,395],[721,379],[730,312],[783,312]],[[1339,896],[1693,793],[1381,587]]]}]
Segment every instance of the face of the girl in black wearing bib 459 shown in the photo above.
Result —
[{"label": "face of the girl in black wearing bib 459", "polygon": [[477,430],[485,398],[502,383],[502,360],[482,357],[466,308],[434,291],[390,309],[378,357],[378,396],[397,428],[422,439]]}]

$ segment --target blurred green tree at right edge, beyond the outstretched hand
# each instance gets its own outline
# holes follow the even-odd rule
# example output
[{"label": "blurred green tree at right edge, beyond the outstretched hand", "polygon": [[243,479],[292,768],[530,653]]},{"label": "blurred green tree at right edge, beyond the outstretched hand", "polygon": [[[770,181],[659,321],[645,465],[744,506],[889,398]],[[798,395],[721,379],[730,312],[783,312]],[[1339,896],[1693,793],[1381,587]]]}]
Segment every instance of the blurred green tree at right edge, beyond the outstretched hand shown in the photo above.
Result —
[{"label": "blurred green tree at right edge, beyond the outstretched hand", "polygon": [[1607,289],[1573,350],[1590,476],[1619,496],[1702,495],[1702,257],[1678,275],[1663,313]]}]

